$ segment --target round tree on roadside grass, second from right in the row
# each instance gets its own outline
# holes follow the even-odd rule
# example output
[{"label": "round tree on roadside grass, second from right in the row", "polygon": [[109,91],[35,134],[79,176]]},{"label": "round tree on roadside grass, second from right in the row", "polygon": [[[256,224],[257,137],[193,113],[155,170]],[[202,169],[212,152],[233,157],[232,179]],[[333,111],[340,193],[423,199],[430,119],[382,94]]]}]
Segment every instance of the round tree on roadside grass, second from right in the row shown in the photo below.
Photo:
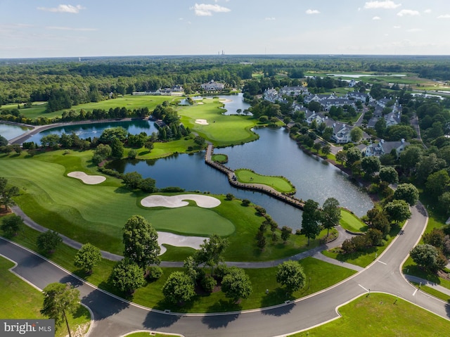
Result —
[{"label": "round tree on roadside grass, second from right in the row", "polygon": [[231,298],[236,302],[240,298],[248,298],[252,293],[252,282],[248,274],[242,268],[231,267],[228,274],[224,276],[221,290],[226,298]]}]

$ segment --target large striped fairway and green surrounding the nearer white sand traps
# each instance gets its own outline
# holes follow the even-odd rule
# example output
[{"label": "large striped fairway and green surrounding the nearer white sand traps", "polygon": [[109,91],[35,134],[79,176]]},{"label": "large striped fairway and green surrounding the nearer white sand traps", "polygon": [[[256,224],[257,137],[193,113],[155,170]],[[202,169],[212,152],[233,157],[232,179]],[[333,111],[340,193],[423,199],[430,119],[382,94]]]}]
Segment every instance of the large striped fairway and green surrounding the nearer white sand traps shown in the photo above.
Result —
[{"label": "large striped fairway and green surrounding the nearer white sand traps", "polygon": [[[304,236],[291,236],[287,243],[279,239],[259,250],[255,236],[264,218],[254,207],[244,207],[238,200],[226,201],[224,196],[216,208],[199,208],[193,203],[184,208],[143,208],[144,193],[134,193],[122,187],[119,179],[107,177],[98,185],[86,185],[79,179],[66,177],[72,171],[98,174],[89,165],[91,152],[51,151],[26,158],[0,155],[0,177],[18,186],[20,196],[15,201],[39,224],[56,230],[81,243],[121,254],[122,227],[132,215],[143,215],[159,231],[177,234],[210,236],[217,233],[229,239],[224,258],[229,261],[276,260],[295,255],[319,244],[319,236],[307,247]],[[214,224],[214,226],[212,226]],[[174,253],[176,255],[176,253]],[[181,254],[184,256],[184,254]]]}]

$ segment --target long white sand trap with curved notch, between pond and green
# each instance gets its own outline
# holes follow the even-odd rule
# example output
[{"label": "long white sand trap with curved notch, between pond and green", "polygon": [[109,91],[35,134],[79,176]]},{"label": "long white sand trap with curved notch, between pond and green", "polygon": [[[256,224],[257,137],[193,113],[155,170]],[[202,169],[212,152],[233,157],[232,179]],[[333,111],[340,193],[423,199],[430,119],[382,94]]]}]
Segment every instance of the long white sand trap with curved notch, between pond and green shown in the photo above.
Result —
[{"label": "long white sand trap with curved notch, between pond and green", "polygon": [[186,200],[192,200],[198,207],[214,208],[220,205],[220,201],[212,196],[203,196],[200,194],[179,194],[178,196],[148,196],[141,200],[143,207],[167,207],[177,208],[189,205]]}]

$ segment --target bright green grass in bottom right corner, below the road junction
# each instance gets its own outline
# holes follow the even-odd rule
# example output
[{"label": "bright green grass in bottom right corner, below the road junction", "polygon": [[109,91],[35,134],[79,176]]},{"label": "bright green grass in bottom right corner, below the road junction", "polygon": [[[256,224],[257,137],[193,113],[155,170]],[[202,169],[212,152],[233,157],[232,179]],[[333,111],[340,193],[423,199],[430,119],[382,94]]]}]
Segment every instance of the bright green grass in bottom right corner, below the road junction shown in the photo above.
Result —
[{"label": "bright green grass in bottom right corner, below the road junction", "polygon": [[292,336],[449,336],[448,320],[383,293],[363,295],[339,312],[339,319]]}]

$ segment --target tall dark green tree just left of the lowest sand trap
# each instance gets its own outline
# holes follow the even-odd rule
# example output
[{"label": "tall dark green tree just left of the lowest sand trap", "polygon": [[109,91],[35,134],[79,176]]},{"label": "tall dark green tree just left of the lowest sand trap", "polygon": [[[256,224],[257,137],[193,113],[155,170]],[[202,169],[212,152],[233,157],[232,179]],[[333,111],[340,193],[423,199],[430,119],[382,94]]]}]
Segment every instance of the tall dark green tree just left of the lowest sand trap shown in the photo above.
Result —
[{"label": "tall dark green tree just left of the lowest sand trap", "polygon": [[142,269],[160,264],[158,232],[141,215],[133,215],[123,228],[124,257]]}]

